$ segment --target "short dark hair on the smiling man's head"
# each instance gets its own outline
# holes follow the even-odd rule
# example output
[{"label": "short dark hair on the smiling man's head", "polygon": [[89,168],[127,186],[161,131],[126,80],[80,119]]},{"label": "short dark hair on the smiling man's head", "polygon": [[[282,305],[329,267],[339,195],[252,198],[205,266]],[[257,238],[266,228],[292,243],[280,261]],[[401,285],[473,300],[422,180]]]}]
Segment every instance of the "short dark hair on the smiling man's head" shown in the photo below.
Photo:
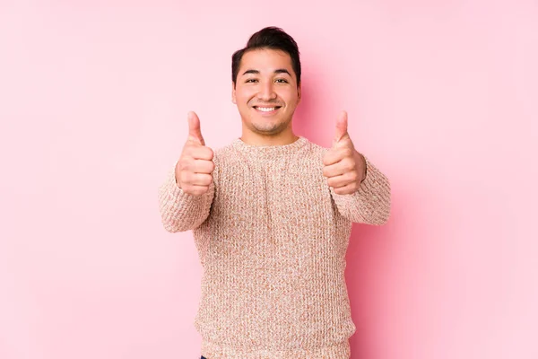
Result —
[{"label": "short dark hair on the smiling man's head", "polygon": [[299,60],[299,48],[297,42],[284,32],[282,29],[270,26],[254,33],[250,39],[248,39],[247,47],[241,48],[234,52],[231,56],[231,81],[235,86],[238,79],[239,65],[241,64],[241,58],[247,51],[256,50],[259,48],[271,48],[274,50],[281,50],[290,55],[291,67],[297,77],[297,85],[300,83],[300,60]]}]

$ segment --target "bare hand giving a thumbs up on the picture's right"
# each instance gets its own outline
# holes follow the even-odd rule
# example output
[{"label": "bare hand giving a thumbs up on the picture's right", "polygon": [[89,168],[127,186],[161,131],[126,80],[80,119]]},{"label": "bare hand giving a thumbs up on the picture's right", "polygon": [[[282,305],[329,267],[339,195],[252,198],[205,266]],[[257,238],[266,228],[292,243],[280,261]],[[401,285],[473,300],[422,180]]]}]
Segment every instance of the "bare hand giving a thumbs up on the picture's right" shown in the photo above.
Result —
[{"label": "bare hand giving a thumbs up on the picture's right", "polygon": [[347,113],[343,111],[336,120],[333,147],[323,158],[323,175],[337,195],[357,191],[366,178],[366,160],[358,153],[347,132]]}]

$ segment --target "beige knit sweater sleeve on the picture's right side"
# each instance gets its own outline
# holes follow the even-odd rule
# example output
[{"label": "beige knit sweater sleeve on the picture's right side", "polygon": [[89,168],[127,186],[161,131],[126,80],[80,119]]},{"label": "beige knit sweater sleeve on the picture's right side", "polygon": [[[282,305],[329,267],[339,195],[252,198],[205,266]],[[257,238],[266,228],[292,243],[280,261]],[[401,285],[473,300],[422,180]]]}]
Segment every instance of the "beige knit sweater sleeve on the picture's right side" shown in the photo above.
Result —
[{"label": "beige knit sweater sleeve on the picture's right side", "polygon": [[350,195],[338,195],[331,188],[338,212],[351,222],[381,225],[390,214],[390,183],[386,176],[366,159],[366,178]]}]

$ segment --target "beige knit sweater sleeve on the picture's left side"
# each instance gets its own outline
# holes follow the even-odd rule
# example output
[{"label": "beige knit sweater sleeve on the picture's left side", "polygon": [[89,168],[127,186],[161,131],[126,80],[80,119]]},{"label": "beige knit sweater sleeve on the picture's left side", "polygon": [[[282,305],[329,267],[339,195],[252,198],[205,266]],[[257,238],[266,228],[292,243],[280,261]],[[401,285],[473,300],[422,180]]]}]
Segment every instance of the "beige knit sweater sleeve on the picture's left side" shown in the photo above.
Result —
[{"label": "beige knit sweater sleeve on the picture's left side", "polygon": [[175,170],[159,188],[159,210],[164,228],[169,232],[194,230],[208,217],[214,196],[214,183],[201,196],[185,193],[176,183]]}]

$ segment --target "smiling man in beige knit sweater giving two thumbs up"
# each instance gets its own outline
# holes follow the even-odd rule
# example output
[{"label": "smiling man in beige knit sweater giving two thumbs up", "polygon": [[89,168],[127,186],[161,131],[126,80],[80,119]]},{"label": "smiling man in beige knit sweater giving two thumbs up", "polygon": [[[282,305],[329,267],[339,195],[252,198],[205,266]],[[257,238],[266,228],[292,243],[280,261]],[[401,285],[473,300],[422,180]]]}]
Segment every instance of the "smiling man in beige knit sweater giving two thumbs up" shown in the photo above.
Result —
[{"label": "smiling man in beige knit sweater giving two thumbs up", "polygon": [[164,227],[192,230],[204,267],[203,358],[350,357],[351,223],[386,223],[390,187],[355,149],[345,112],[331,149],[293,134],[300,95],[295,40],[256,32],[232,57],[241,137],[213,153],[189,112],[187,143],[160,189]]}]

